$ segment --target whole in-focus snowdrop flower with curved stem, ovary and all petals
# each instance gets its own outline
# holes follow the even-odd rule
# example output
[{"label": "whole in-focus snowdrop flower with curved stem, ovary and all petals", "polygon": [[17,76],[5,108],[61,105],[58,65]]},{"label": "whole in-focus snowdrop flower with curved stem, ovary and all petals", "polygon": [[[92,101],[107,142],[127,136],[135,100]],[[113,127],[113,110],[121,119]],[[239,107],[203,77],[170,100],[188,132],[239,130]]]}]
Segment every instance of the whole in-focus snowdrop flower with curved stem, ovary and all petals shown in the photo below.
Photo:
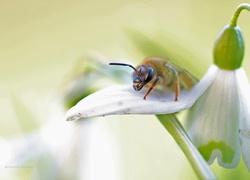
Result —
[{"label": "whole in-focus snowdrop flower with curved stem, ovary and all petals", "polygon": [[[239,6],[235,16],[246,7],[249,5]],[[181,91],[178,101],[173,100],[173,92],[160,91],[151,92],[144,100],[145,90],[136,92],[130,85],[116,85],[81,100],[66,113],[66,119],[171,114],[194,105],[186,127],[204,159],[211,164],[217,158],[221,166],[233,168],[242,153],[250,170],[250,85],[241,68],[244,43],[235,16],[217,37],[214,64],[193,88]]]}]

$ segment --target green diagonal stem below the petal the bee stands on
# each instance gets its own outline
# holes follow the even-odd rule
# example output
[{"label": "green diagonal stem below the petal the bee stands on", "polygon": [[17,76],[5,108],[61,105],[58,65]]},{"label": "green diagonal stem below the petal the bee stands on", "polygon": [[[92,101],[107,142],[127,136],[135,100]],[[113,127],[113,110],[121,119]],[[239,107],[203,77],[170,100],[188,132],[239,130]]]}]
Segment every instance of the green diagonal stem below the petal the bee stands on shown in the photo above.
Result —
[{"label": "green diagonal stem below the petal the bee stands on", "polygon": [[191,142],[184,128],[174,114],[156,115],[182,149],[199,179],[216,179],[199,151]]}]

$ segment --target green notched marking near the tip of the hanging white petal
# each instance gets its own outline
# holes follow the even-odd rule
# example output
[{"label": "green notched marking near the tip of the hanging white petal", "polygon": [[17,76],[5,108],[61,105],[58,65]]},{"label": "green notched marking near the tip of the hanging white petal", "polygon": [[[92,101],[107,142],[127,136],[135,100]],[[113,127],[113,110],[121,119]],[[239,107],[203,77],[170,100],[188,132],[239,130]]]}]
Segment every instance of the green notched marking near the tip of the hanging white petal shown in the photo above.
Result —
[{"label": "green notched marking near the tip of the hanging white petal", "polygon": [[234,150],[230,146],[227,146],[222,141],[220,142],[211,141],[206,145],[198,147],[198,150],[200,151],[200,153],[202,154],[202,156],[206,161],[210,159],[211,154],[215,149],[218,149],[221,152],[223,163],[230,164],[233,162],[233,157],[235,155]]}]

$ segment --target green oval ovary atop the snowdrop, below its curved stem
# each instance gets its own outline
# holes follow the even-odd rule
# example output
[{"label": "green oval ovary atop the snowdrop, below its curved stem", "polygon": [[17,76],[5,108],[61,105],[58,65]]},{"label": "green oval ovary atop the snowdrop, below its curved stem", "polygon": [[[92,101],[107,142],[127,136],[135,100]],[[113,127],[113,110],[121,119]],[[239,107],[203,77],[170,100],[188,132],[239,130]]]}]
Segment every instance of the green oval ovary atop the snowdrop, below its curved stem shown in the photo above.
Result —
[{"label": "green oval ovary atop the snowdrop, below its curved stem", "polygon": [[238,26],[226,25],[216,38],[214,63],[221,69],[235,70],[241,67],[244,56],[244,40]]}]

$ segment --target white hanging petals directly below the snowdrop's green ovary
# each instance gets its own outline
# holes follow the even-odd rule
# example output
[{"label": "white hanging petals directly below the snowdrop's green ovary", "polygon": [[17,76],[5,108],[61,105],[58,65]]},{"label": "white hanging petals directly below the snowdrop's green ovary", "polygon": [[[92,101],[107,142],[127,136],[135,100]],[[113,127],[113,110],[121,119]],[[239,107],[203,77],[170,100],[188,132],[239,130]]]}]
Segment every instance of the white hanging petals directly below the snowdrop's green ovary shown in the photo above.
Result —
[{"label": "white hanging petals directly below the snowdrop's green ovary", "polygon": [[[241,151],[250,162],[250,85],[243,68],[218,68],[216,78],[190,109],[186,127],[193,143],[209,164],[215,158],[234,168]],[[249,168],[249,165],[248,165]]]}]

